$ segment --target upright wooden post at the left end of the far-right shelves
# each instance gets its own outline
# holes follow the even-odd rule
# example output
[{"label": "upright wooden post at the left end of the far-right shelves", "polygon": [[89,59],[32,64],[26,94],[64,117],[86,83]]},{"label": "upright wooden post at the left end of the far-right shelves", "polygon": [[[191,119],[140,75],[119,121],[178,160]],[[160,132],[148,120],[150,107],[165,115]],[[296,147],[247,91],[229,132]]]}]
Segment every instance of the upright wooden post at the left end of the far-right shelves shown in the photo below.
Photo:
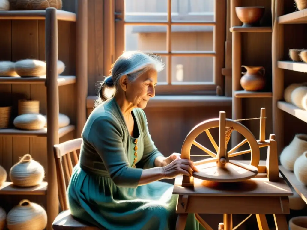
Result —
[{"label": "upright wooden post at the left end of the far-right shelves", "polygon": [[283,99],[284,71],[277,67],[277,61],[282,60],[284,54],[284,26],[278,24],[278,17],[283,14],[283,0],[272,0],[272,126],[276,135],[277,152],[283,146],[283,111],[277,108],[277,102]]}]

